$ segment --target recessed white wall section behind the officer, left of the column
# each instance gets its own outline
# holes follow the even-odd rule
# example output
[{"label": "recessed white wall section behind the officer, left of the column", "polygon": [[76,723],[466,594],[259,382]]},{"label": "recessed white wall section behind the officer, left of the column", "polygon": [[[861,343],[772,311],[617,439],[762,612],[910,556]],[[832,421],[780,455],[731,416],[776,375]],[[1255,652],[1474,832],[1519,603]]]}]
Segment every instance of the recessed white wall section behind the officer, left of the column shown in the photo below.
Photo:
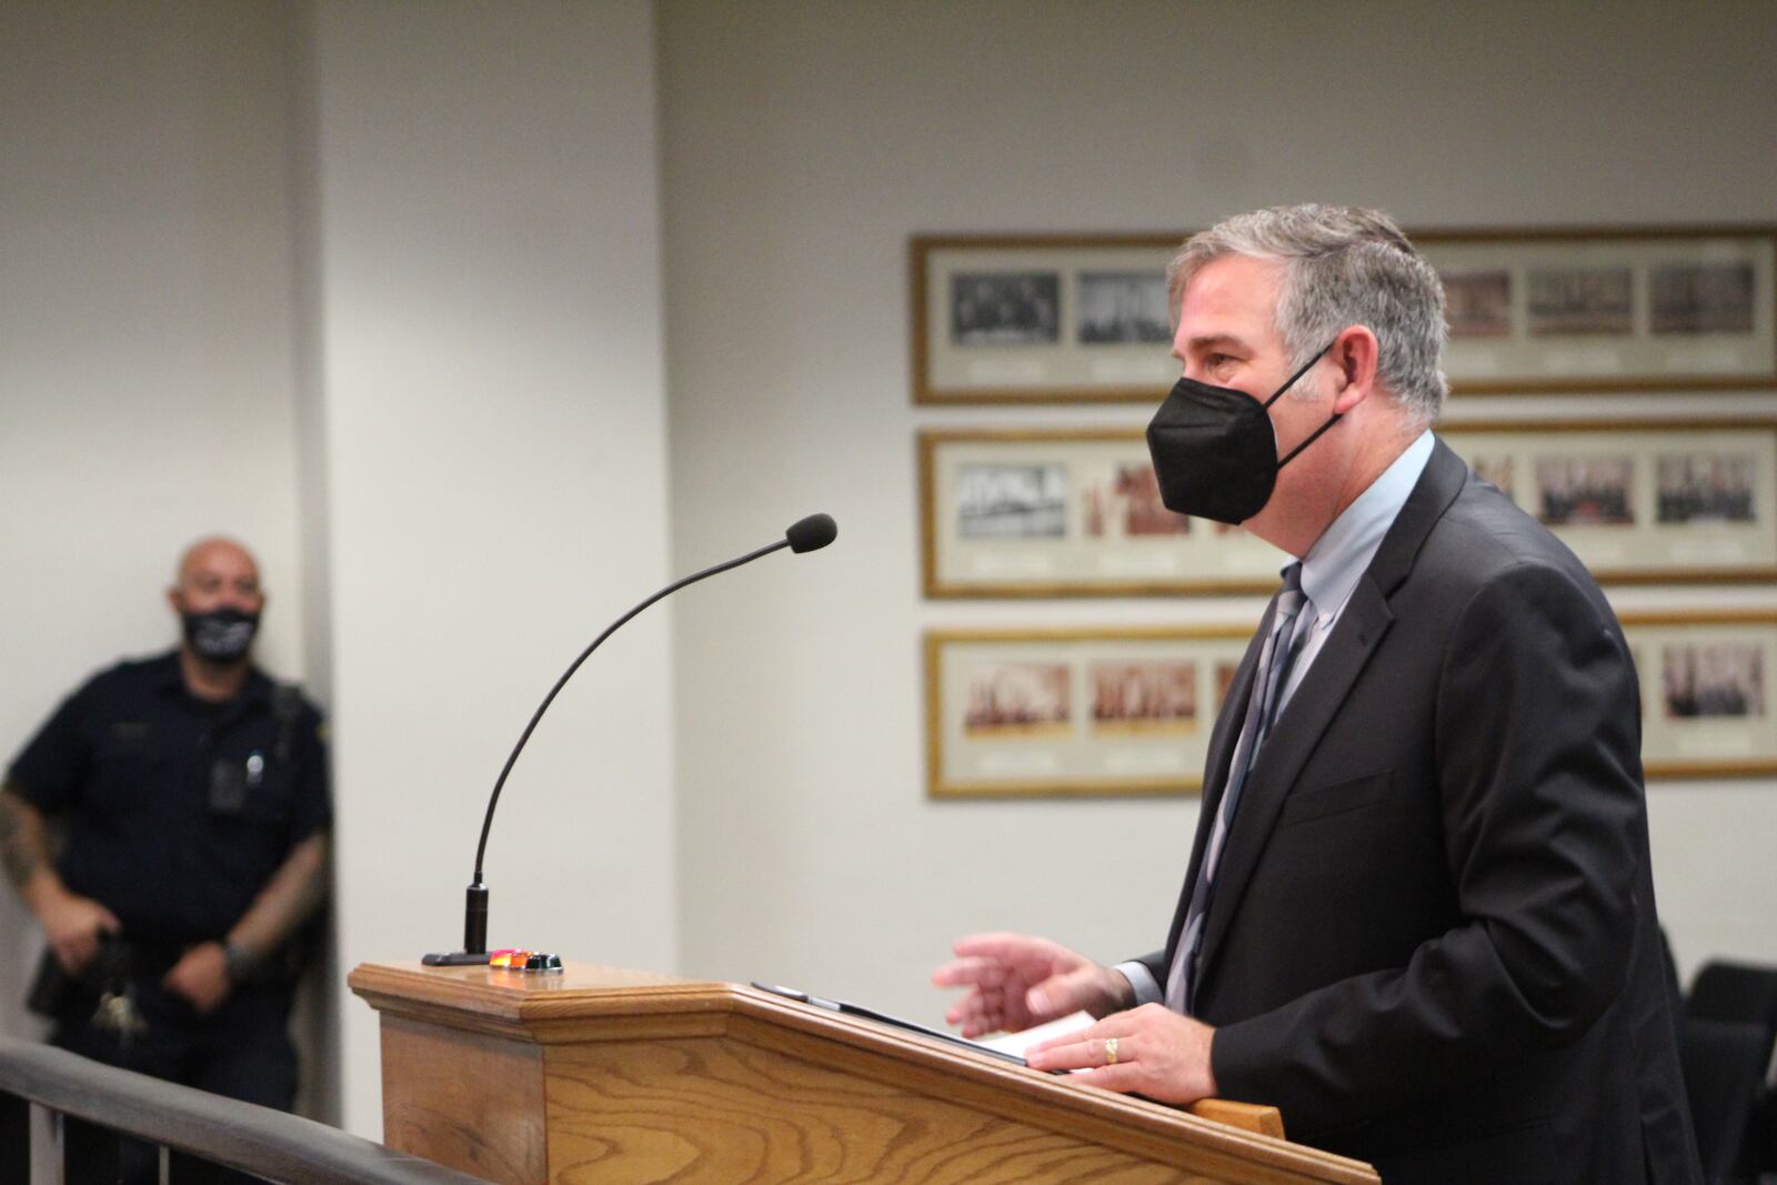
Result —
[{"label": "recessed white wall section behind the officer, left of the column", "polygon": [[[179,549],[259,556],[304,673],[279,21],[0,5],[0,760],[92,670],[171,647]],[[0,892],[0,1030],[39,947]]]}]

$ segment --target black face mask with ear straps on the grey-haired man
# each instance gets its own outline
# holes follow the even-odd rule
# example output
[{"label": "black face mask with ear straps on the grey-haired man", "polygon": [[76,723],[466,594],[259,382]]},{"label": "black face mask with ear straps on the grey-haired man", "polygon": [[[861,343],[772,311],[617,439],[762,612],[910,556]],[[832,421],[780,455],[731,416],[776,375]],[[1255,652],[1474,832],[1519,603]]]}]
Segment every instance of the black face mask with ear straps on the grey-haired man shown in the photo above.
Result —
[{"label": "black face mask with ear straps on the grey-haired man", "polygon": [[1263,403],[1233,387],[1180,378],[1148,423],[1148,455],[1166,508],[1235,526],[1263,510],[1278,469],[1338,421],[1327,418],[1288,457],[1278,458],[1271,405],[1331,348],[1329,341]]}]

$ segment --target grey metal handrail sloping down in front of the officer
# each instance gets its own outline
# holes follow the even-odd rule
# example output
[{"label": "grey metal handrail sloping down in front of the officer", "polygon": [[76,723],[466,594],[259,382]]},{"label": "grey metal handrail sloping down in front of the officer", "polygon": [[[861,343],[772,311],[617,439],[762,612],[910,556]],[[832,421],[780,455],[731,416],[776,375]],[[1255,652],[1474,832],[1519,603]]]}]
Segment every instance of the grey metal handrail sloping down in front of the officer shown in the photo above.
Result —
[{"label": "grey metal handrail sloping down in front of the officer", "polygon": [[0,1038],[0,1096],[281,1185],[489,1185],[339,1128]]}]

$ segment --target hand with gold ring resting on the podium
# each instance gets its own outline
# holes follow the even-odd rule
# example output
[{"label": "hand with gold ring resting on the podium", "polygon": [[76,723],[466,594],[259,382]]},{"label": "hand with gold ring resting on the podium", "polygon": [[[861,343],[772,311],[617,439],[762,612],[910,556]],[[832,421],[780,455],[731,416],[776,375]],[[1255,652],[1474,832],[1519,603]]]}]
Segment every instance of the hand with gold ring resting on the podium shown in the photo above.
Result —
[{"label": "hand with gold ring resting on the podium", "polygon": [[1146,1094],[1162,1103],[1194,1103],[1215,1093],[1214,1038],[1215,1030],[1201,1020],[1180,1016],[1162,1004],[1143,1004],[1091,1029],[1034,1045],[1024,1057],[1032,1070],[1079,1070],[1070,1082]]}]

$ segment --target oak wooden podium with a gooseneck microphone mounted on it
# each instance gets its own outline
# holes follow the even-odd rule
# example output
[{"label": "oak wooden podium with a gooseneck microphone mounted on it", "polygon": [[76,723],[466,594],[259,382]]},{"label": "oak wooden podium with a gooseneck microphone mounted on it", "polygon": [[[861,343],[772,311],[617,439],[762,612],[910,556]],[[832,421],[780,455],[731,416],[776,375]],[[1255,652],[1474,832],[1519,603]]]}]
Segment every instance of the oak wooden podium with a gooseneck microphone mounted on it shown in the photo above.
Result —
[{"label": "oak wooden podium with a gooseneck microphone mounted on it", "polygon": [[736,984],[366,963],[384,1142],[512,1185],[1370,1181],[1159,1103]]}]

